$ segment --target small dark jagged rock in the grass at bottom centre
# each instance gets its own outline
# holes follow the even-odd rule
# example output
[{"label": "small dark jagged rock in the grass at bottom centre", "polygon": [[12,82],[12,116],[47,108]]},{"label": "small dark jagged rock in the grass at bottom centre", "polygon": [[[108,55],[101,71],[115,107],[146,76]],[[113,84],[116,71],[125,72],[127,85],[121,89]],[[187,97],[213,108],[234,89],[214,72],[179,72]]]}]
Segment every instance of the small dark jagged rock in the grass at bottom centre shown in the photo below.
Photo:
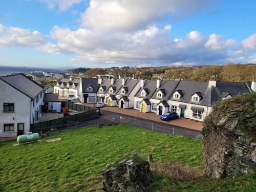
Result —
[{"label": "small dark jagged rock in the grass at bottom centre", "polygon": [[104,191],[140,192],[152,182],[150,164],[136,154],[107,166],[101,175]]}]

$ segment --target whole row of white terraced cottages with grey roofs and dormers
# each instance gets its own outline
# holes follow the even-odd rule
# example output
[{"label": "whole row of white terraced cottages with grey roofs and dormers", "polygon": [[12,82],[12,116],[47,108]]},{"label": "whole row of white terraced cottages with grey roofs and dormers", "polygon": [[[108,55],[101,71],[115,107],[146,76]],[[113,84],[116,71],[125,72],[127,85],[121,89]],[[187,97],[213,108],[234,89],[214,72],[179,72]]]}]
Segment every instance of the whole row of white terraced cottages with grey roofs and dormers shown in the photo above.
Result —
[{"label": "whole row of white terraced cottages with grey roofs and dormers", "polygon": [[82,103],[104,102],[120,109],[134,108],[157,115],[177,112],[180,117],[203,121],[214,102],[256,91],[255,82],[172,81],[136,79],[61,79],[54,92],[74,92]]}]

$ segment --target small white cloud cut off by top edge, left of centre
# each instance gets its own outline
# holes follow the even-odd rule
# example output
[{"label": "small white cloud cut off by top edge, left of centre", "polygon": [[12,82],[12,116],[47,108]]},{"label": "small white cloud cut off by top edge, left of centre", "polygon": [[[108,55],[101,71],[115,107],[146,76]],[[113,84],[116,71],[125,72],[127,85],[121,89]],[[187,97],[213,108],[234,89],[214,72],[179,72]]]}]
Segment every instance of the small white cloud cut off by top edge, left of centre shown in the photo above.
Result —
[{"label": "small white cloud cut off by top edge, left of centre", "polygon": [[82,0],[40,0],[47,4],[49,9],[58,7],[60,11],[66,11],[75,4],[81,3]]}]

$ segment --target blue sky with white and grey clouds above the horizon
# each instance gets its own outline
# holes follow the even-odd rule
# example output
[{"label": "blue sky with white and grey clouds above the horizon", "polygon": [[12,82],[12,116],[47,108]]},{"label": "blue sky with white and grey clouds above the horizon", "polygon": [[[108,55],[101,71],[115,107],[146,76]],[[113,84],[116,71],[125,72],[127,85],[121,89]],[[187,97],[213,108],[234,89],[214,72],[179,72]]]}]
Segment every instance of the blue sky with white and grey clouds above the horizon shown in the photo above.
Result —
[{"label": "blue sky with white and grey clouds above the horizon", "polygon": [[254,0],[0,0],[0,66],[256,63]]}]

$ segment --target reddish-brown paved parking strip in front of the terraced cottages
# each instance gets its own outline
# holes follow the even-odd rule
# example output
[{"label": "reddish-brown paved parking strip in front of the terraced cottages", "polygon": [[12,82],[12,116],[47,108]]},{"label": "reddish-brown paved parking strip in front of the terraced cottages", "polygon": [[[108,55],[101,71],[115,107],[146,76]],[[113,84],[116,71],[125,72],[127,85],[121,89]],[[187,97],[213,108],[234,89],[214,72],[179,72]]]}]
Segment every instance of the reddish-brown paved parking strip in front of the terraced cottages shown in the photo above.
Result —
[{"label": "reddish-brown paved parking strip in front of the terraced cottages", "polygon": [[[83,104],[87,106],[94,106],[94,103],[83,103]],[[180,117],[179,119],[170,120],[170,121],[162,121],[160,119],[160,116],[157,115],[156,113],[152,113],[152,112],[141,113],[139,110],[135,110],[133,108],[119,109],[118,106],[111,106],[111,107],[104,106],[104,108],[101,108],[101,110],[128,115],[136,118],[151,120],[151,121],[157,121],[157,122],[161,122],[169,125],[176,125],[176,126],[184,127],[191,130],[202,131],[203,129],[203,123],[201,121],[195,121],[195,120],[186,119],[183,117]]]}]

